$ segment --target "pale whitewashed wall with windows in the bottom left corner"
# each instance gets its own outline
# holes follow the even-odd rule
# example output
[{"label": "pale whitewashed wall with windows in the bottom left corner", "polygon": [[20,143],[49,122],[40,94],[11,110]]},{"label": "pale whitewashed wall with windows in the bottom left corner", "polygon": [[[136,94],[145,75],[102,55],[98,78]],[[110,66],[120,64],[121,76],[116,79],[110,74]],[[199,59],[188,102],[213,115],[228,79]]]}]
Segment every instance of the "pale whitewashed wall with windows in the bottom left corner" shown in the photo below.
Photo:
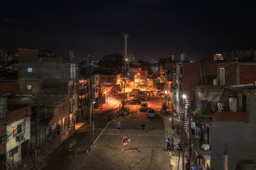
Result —
[{"label": "pale whitewashed wall with windows in the bottom left corner", "polygon": [[[13,136],[13,127],[20,124],[22,124],[21,134],[24,134],[24,139],[16,142],[16,136]],[[21,144],[30,139],[30,117],[25,117],[6,125],[6,135],[9,136],[6,142],[6,159],[12,159],[9,157],[9,151],[19,146],[18,152],[13,155],[13,161],[19,162],[21,160]]]}]

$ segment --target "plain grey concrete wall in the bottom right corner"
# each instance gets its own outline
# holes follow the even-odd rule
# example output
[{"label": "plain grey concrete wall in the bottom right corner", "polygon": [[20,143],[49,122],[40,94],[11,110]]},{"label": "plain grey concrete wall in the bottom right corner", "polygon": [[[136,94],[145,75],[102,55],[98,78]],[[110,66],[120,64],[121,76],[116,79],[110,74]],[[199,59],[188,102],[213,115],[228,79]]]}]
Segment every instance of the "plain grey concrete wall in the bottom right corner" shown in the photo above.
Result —
[{"label": "plain grey concrete wall in the bottom right corner", "polygon": [[224,145],[228,149],[228,169],[240,160],[256,160],[256,96],[250,96],[248,123],[211,122],[211,168],[223,169]]}]

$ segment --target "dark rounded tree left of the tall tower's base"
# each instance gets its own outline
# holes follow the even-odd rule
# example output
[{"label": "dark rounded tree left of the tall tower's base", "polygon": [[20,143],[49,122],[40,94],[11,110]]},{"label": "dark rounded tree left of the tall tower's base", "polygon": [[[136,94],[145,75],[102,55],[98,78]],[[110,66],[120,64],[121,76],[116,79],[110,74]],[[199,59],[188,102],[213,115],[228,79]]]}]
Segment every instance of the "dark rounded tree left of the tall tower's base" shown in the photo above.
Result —
[{"label": "dark rounded tree left of the tall tower's base", "polygon": [[104,55],[99,61],[99,66],[109,68],[121,68],[124,66],[124,56],[120,53]]}]

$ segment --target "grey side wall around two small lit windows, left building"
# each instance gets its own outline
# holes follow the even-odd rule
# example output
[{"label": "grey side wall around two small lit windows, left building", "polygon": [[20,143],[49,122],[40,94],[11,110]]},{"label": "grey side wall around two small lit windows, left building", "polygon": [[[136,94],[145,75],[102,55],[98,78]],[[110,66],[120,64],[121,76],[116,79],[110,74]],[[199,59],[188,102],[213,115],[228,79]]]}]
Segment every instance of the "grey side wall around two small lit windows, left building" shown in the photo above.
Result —
[{"label": "grey side wall around two small lit windows, left building", "polygon": [[[19,62],[20,94],[68,95],[70,66],[68,62]],[[32,67],[33,72],[27,73]],[[32,85],[32,90],[26,90]]]}]

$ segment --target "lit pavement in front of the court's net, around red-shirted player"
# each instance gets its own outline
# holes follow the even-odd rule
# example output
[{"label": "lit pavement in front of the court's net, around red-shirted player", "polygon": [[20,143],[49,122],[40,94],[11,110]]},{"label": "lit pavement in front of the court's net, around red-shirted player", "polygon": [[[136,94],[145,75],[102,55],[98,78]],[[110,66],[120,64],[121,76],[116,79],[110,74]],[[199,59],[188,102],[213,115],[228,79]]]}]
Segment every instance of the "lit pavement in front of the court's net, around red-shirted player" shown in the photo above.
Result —
[{"label": "lit pavement in front of the court's net, around red-shirted player", "polygon": [[61,169],[171,169],[163,136],[128,136],[129,150],[122,150],[122,138],[102,135],[92,153]]}]

